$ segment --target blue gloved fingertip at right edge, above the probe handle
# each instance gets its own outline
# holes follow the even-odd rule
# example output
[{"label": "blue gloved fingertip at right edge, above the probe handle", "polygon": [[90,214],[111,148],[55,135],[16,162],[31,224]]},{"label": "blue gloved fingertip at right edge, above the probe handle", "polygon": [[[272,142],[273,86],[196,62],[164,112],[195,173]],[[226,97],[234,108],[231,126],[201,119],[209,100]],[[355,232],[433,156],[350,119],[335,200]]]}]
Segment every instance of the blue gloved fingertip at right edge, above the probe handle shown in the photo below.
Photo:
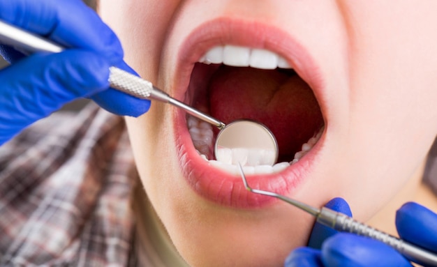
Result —
[{"label": "blue gloved fingertip at right edge, above the probe handle", "polygon": [[402,239],[437,252],[437,214],[417,204],[403,204],[396,213],[396,227]]}]

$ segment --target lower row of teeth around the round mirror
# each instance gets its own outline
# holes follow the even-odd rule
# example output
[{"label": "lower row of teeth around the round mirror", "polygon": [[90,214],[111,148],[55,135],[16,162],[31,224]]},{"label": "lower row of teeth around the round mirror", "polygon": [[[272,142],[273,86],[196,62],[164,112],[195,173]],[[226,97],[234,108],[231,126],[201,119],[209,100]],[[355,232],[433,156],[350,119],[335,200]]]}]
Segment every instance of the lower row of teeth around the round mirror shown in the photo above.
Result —
[{"label": "lower row of teeth around the round mirror", "polygon": [[308,142],[302,144],[302,150],[295,153],[295,158],[291,162],[279,162],[275,165],[266,165],[262,162],[262,156],[265,151],[218,151],[218,153],[227,153],[228,157],[225,157],[225,162],[217,160],[209,160],[214,155],[214,133],[212,125],[199,121],[193,116],[188,116],[188,131],[190,132],[191,139],[193,140],[194,147],[198,151],[199,155],[209,162],[209,165],[218,167],[228,171],[230,174],[239,174],[237,163],[240,162],[243,165],[244,174],[274,174],[276,172],[283,171],[290,165],[298,162],[306,153],[320,139],[323,128],[314,136],[311,137]]}]

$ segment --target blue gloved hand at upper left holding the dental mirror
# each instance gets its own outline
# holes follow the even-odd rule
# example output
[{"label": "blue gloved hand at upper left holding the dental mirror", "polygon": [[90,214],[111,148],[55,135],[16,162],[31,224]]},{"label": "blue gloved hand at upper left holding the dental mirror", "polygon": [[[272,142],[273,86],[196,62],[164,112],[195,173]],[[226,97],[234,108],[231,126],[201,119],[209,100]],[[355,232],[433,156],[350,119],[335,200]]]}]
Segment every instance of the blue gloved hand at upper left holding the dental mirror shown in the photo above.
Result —
[{"label": "blue gloved hand at upper left holding the dental mirror", "polygon": [[70,47],[24,58],[0,45],[0,54],[12,63],[0,70],[0,144],[75,98],[92,98],[119,115],[149,109],[149,100],[108,88],[110,66],[133,70],[123,61],[117,36],[81,0],[4,0],[0,20]]}]

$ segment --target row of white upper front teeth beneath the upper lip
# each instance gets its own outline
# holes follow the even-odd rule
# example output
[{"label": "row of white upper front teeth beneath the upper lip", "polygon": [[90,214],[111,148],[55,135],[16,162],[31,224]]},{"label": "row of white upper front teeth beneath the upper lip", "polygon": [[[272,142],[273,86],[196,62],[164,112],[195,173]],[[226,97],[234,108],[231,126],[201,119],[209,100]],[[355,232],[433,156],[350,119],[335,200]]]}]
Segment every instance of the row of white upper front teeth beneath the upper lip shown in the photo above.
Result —
[{"label": "row of white upper front teeth beneath the upper lip", "polygon": [[234,67],[252,67],[273,70],[291,68],[282,56],[267,49],[242,47],[235,45],[216,46],[209,49],[199,60],[200,63],[225,64]]}]

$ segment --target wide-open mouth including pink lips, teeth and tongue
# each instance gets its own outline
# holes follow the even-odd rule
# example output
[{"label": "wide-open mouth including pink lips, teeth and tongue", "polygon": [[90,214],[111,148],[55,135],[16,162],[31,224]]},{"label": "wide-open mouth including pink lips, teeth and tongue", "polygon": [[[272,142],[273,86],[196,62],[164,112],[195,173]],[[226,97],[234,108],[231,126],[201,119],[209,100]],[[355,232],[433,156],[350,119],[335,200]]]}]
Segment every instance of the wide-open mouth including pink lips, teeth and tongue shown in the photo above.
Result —
[{"label": "wide-open mouth including pink lips, teeth and tongue", "polygon": [[[237,33],[246,31],[245,37],[218,30],[215,36],[222,36],[219,42],[212,38],[211,42],[201,42],[197,47],[195,41],[188,42],[188,49],[195,52],[185,59],[186,65],[191,64],[191,75],[184,102],[225,124],[251,119],[266,125],[278,142],[279,160],[273,166],[249,162],[249,166],[243,167],[244,173],[254,187],[289,192],[308,173],[309,162],[315,158],[308,155],[325,129],[323,113],[312,88],[318,82],[309,78],[313,75],[311,70],[316,68],[305,68],[308,62],[302,59],[308,56],[305,53],[302,56],[299,53],[302,49],[296,49],[297,45],[278,45],[283,33],[274,34],[275,31],[267,29],[271,36],[273,32],[274,38],[266,42],[264,36],[261,47],[256,39],[260,38],[262,27],[248,29],[246,24],[235,22],[230,25],[239,28]],[[204,28],[217,29],[209,25]],[[210,38],[214,33],[207,36]],[[229,40],[223,40],[223,36]],[[186,132],[180,130],[182,123],[186,123]],[[176,126],[180,133],[177,144],[181,167],[193,190],[230,206],[260,206],[268,202],[265,197],[245,192],[236,165],[216,160],[214,142],[218,129],[182,113]],[[305,160],[308,162],[302,164]]]}]

